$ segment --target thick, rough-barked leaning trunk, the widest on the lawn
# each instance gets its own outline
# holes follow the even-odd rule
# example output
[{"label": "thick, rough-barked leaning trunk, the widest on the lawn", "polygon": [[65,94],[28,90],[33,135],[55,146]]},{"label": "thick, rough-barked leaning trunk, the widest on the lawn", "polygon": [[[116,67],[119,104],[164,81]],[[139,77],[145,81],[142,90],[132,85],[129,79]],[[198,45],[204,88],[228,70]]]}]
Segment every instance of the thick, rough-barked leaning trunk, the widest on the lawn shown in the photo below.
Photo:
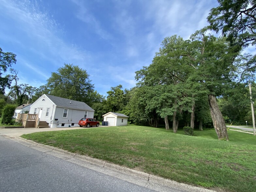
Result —
[{"label": "thick, rough-barked leaning trunk, the widest on the lawn", "polygon": [[225,125],[225,121],[222,117],[222,114],[219,110],[218,104],[216,102],[215,95],[209,94],[208,101],[210,104],[211,116],[213,120],[213,126],[218,136],[218,139],[229,140],[227,127]]}]

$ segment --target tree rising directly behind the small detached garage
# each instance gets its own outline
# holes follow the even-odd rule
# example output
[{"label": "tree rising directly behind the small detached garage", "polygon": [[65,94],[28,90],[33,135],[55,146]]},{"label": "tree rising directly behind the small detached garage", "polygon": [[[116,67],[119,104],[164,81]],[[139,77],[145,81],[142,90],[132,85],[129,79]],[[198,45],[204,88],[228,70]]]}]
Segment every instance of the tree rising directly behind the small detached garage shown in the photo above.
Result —
[{"label": "tree rising directly behind the small detached garage", "polygon": [[121,111],[124,107],[124,91],[123,86],[118,85],[116,87],[111,87],[111,90],[107,91],[107,101],[106,104],[112,112]]}]

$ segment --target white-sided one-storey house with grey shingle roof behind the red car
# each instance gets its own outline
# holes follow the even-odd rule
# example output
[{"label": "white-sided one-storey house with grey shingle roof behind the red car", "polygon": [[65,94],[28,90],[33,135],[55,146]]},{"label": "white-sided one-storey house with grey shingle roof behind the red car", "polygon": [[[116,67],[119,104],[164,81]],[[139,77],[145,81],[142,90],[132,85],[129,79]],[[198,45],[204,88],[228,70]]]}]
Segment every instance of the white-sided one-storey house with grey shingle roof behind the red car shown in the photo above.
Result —
[{"label": "white-sided one-storey house with grey shingle roof behind the red car", "polygon": [[38,114],[51,128],[77,127],[81,118],[93,118],[94,110],[84,102],[43,94],[31,104],[29,114]]}]

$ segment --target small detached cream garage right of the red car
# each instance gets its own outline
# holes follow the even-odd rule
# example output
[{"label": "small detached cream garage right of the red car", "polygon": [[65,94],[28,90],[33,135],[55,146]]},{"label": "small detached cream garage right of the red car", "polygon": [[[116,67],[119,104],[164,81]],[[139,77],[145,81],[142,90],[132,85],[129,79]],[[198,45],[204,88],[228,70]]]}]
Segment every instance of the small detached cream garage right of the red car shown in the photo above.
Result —
[{"label": "small detached cream garage right of the red car", "polygon": [[104,121],[108,121],[110,126],[123,126],[127,125],[128,116],[121,113],[108,112],[103,115]]}]

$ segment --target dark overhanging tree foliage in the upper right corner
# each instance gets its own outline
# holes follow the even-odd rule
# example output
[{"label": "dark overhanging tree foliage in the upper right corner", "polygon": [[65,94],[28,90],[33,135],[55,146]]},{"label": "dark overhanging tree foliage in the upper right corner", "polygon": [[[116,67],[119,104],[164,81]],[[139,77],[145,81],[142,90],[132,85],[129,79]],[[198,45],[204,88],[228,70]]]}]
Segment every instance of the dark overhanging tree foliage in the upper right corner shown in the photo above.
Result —
[{"label": "dark overhanging tree foliage in the upper right corner", "polygon": [[255,0],[218,0],[219,6],[212,8],[207,17],[210,27],[227,36],[232,46],[247,47],[256,42]]}]

